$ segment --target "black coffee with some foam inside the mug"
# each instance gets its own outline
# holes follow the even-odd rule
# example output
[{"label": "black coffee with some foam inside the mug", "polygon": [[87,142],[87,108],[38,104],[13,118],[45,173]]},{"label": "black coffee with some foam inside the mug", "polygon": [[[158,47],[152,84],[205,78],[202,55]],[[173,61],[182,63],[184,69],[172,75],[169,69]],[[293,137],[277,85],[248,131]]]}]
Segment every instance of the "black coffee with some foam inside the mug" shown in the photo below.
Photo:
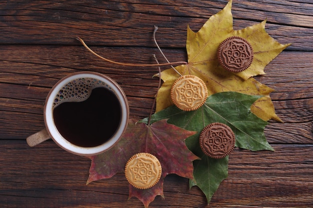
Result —
[{"label": "black coffee with some foam inside the mug", "polygon": [[[95,88],[82,85],[79,89],[69,83],[70,89],[64,86],[54,101],[57,105],[53,108],[53,119],[57,130],[68,142],[80,147],[105,143],[121,120],[121,107],[115,94],[101,87],[101,82],[94,82]],[[83,97],[82,101],[74,99],[77,97]]]}]

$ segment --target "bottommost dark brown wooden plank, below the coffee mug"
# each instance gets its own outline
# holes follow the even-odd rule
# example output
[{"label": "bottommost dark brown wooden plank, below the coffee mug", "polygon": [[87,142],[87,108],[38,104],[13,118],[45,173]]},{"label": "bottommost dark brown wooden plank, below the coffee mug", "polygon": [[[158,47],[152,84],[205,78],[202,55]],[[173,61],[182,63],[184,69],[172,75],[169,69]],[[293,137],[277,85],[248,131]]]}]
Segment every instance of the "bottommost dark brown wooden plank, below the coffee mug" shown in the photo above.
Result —
[{"label": "bottommost dark brown wooden plank, below the coffee mug", "polygon": [[[312,145],[274,145],[275,152],[253,153],[236,149],[229,157],[228,178],[222,182],[209,207],[310,207],[313,191]],[[0,204],[11,208],[142,207],[127,201],[123,174],[85,185],[90,161],[71,155],[47,141],[35,148],[25,141],[0,141]],[[27,155],[27,158],[20,157]],[[14,165],[12,165],[14,164]],[[249,171],[247,171],[249,170]],[[197,188],[169,175],[164,196],[150,208],[204,208]]]}]

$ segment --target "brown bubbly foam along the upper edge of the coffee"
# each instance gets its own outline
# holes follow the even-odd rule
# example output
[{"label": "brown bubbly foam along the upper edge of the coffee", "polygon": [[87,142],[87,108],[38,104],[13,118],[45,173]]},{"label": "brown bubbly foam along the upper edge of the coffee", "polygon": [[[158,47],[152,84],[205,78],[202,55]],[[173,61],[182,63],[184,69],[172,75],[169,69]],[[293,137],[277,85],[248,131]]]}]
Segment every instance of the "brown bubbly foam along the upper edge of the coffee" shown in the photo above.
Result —
[{"label": "brown bubbly foam along the upper edge of the coffee", "polygon": [[104,82],[93,78],[78,78],[72,80],[60,87],[58,93],[55,95],[52,107],[56,107],[63,102],[82,102],[86,100],[91,91],[97,87],[105,87],[112,91],[112,89]]}]

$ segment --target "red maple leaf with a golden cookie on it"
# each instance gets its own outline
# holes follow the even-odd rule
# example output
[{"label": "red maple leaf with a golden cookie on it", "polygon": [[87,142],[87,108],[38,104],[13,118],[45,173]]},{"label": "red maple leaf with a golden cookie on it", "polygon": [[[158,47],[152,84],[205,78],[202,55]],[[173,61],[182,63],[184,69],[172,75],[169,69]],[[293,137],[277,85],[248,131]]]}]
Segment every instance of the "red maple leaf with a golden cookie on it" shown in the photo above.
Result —
[{"label": "red maple leaf with a golden cookie on it", "polygon": [[196,132],[187,131],[160,120],[146,125],[129,120],[121,140],[110,150],[91,156],[87,184],[111,178],[123,173],[128,159],[136,153],[150,153],[160,162],[162,175],[159,182],[150,189],[140,190],[129,185],[129,198],[136,197],[147,208],[155,196],[163,197],[163,180],[168,174],[193,179],[192,161],[198,159],[185,146],[184,140]]}]

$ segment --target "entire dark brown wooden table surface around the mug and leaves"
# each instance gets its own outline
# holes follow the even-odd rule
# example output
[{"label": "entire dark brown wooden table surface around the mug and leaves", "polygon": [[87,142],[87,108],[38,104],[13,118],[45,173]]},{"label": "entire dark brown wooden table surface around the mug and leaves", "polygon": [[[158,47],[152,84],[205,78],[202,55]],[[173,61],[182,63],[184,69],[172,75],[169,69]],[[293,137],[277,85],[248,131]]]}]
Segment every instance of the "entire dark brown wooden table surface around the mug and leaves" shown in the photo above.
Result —
[{"label": "entire dark brown wooden table surface around the mug and leaves", "polygon": [[[25,138],[44,128],[43,105],[50,88],[77,71],[113,78],[126,93],[130,118],[149,115],[158,80],[156,67],[115,61],[185,61],[186,28],[197,31],[226,0],[1,0],[0,1],[0,205],[7,208],[143,208],[128,198],[123,174],[86,185],[90,160],[48,140],[34,148]],[[275,152],[236,148],[228,178],[209,206],[187,179],[169,175],[164,196],[149,208],[313,207],[313,2],[233,0],[234,29],[267,18],[266,31],[292,43],[256,79],[270,94],[284,123],[270,121],[265,136]],[[162,67],[162,70],[168,67]]]}]

